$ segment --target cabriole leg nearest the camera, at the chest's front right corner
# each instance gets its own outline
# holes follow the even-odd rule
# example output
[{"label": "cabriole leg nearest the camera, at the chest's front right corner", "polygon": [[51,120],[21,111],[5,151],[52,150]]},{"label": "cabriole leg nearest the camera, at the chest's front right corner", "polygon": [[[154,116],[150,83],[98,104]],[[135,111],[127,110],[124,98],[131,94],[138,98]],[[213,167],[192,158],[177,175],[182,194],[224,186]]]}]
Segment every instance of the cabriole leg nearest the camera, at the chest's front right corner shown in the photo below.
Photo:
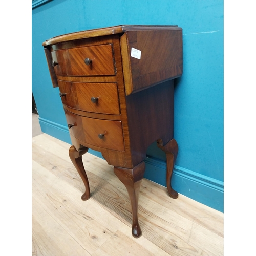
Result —
[{"label": "cabriole leg nearest the camera, at the chest's front right corner", "polygon": [[133,226],[132,226],[132,235],[135,238],[139,238],[142,234],[139,222],[138,222],[138,203],[139,203],[139,192],[140,184],[143,179],[145,172],[145,163],[144,161],[136,165],[133,169],[114,167],[114,173],[119,178],[119,180],[126,187],[130,203],[132,207],[133,214]]}]

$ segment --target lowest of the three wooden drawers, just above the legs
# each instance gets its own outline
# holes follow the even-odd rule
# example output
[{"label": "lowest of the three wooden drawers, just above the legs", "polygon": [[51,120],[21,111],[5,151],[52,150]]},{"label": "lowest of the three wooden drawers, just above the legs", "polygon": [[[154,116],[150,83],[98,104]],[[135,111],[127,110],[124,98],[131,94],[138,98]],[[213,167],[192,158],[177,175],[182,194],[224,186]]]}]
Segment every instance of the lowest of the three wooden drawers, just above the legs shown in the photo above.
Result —
[{"label": "lowest of the three wooden drawers, just above the legs", "polygon": [[94,146],[124,151],[121,121],[78,116],[67,110],[65,115],[68,124],[74,125],[69,131],[77,139]]}]

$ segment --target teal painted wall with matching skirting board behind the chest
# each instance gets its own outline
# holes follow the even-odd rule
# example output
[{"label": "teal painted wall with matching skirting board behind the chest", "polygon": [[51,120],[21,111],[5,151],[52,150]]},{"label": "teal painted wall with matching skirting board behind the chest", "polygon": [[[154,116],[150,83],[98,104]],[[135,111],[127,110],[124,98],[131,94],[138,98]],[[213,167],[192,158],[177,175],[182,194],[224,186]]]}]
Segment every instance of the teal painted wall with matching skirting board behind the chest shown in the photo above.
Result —
[{"label": "teal painted wall with matching skirting board behind the chest", "polygon": [[[223,211],[223,0],[53,0],[32,10],[32,91],[43,132],[68,143],[67,123],[41,44],[53,36],[120,24],[183,29],[183,76],[175,80],[173,186]],[[91,153],[100,156],[99,153]],[[165,155],[147,151],[145,177],[165,183]]]}]

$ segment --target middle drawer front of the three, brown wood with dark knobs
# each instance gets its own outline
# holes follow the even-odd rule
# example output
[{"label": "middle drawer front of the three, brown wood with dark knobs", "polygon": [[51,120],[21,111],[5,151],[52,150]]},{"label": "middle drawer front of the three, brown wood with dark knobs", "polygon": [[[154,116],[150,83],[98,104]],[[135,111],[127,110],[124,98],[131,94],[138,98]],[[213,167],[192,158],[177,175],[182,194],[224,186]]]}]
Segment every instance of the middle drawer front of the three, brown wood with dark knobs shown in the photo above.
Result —
[{"label": "middle drawer front of the three, brown wood with dark knobs", "polygon": [[62,103],[70,108],[119,115],[117,83],[58,81]]}]

